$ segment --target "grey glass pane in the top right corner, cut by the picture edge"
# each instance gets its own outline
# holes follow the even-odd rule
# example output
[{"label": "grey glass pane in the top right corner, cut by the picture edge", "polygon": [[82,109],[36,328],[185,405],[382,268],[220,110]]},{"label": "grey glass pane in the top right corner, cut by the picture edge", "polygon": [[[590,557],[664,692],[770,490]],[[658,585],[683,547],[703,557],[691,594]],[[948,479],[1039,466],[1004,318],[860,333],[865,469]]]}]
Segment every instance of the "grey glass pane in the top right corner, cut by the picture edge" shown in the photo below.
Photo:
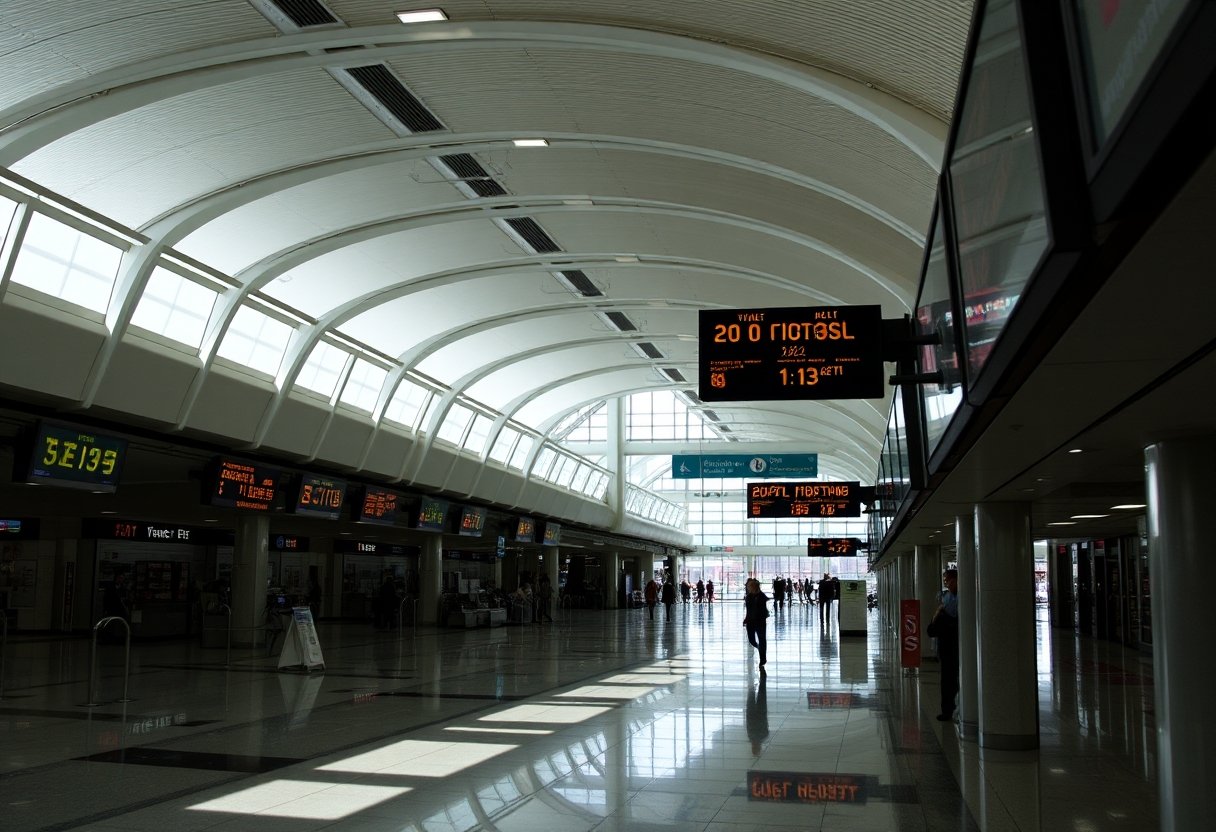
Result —
[{"label": "grey glass pane in the top right corner, cut by the picture edge", "polygon": [[1114,133],[1193,5],[1187,0],[1073,0],[1096,146]]}]

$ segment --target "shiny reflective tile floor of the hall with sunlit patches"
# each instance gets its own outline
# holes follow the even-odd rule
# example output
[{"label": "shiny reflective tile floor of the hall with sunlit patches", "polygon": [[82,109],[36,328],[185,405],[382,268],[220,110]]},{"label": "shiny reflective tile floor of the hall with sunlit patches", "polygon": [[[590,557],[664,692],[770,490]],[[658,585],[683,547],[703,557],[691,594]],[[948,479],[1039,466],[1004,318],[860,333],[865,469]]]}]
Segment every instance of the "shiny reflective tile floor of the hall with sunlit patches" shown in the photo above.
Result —
[{"label": "shiny reflective tile floor of the hall with sunlit patches", "polygon": [[[1152,662],[1038,624],[1042,747],[933,719],[871,613],[840,637],[742,603],[570,611],[552,625],[325,623],[323,673],[266,651],[12,635],[0,828],[572,832],[1158,828]],[[1040,611],[1043,619],[1046,611]],[[225,667],[227,664],[227,667]],[[101,704],[85,707],[90,701]]]}]

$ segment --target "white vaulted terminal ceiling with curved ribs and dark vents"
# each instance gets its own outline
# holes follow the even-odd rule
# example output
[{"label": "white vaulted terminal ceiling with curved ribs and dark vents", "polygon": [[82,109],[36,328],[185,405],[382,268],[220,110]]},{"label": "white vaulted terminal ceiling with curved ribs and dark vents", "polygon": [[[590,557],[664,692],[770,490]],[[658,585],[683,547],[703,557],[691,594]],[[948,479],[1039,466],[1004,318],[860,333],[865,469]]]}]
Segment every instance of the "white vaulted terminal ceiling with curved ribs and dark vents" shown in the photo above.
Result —
[{"label": "white vaulted terminal ceiling with curved ribs and dark vents", "polygon": [[[277,398],[336,338],[385,384],[422,373],[545,429],[694,393],[700,309],[908,311],[970,2],[450,0],[446,22],[398,21],[421,6],[7,4],[0,165],[147,240],[112,341],[173,252],[230,280],[204,370],[261,298],[300,321]],[[713,410],[724,437],[865,479],[886,409]]]}]

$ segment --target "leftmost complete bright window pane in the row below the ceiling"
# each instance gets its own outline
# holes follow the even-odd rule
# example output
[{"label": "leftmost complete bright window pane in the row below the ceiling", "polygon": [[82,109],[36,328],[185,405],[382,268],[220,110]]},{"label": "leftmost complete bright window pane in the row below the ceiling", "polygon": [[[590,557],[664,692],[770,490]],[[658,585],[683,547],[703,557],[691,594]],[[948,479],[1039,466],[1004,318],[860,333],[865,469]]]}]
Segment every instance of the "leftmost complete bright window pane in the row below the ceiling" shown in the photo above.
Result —
[{"label": "leftmost complete bright window pane in the row below the ceiling", "polygon": [[105,313],[123,249],[34,212],[12,282]]}]

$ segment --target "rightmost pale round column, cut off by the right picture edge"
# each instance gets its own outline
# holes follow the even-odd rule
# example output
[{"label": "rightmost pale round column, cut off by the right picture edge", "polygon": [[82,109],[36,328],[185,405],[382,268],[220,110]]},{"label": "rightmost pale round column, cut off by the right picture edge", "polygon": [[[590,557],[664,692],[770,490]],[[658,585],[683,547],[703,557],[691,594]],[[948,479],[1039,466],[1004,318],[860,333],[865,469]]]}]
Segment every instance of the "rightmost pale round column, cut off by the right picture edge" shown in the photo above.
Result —
[{"label": "rightmost pale round column, cut off by the right picture edge", "polygon": [[1216,438],[1170,439],[1144,451],[1158,794],[1162,830],[1203,830],[1216,816],[1211,787],[1211,635],[1203,609],[1216,584],[1211,519]]}]

